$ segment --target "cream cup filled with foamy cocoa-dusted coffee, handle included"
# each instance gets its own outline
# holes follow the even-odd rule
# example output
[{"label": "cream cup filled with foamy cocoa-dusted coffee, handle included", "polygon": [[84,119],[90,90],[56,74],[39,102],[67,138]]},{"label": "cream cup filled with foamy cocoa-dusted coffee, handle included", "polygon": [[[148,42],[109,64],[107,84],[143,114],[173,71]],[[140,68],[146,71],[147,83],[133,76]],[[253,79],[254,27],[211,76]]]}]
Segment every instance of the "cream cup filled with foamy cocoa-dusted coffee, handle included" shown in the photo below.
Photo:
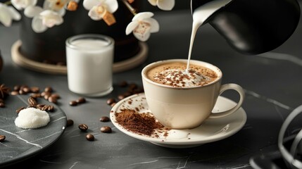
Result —
[{"label": "cream cup filled with foamy cocoa-dusted coffee, handle included", "polygon": [[[244,89],[238,84],[223,84],[222,72],[202,61],[172,59],[146,65],[141,71],[147,104],[155,118],[165,127],[189,129],[207,118],[222,118],[234,113],[244,101]],[[218,96],[227,89],[240,95],[236,106],[212,113]]]}]

